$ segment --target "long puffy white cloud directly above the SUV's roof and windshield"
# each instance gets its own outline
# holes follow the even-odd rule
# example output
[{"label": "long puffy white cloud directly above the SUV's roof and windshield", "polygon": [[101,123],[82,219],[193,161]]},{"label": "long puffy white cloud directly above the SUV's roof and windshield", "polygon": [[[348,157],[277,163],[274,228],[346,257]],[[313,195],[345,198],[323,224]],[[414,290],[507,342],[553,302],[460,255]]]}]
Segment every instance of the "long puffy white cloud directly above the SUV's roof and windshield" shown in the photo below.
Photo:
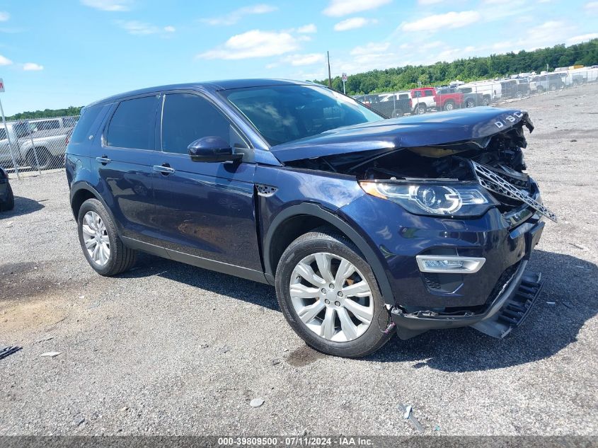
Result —
[{"label": "long puffy white cloud directly above the SUV's roof and windshield", "polygon": [[299,44],[290,33],[251,30],[232,36],[224,45],[197,54],[202,59],[247,59],[279,56],[297,50]]}]

